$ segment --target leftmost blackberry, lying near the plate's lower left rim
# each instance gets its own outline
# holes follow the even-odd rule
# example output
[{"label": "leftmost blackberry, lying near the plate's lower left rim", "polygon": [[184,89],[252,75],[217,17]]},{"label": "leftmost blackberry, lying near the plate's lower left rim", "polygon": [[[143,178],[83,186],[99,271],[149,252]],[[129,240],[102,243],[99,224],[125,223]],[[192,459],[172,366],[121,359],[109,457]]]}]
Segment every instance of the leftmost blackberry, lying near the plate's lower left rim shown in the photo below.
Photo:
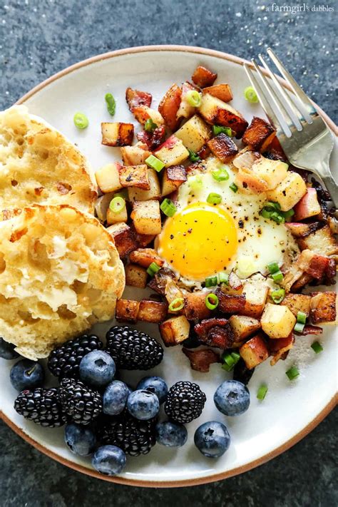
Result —
[{"label": "leftmost blackberry, lying near the plate's lower left rim", "polygon": [[63,414],[55,387],[21,391],[14,401],[14,409],[29,421],[48,428],[57,428],[66,423],[66,414]]}]

